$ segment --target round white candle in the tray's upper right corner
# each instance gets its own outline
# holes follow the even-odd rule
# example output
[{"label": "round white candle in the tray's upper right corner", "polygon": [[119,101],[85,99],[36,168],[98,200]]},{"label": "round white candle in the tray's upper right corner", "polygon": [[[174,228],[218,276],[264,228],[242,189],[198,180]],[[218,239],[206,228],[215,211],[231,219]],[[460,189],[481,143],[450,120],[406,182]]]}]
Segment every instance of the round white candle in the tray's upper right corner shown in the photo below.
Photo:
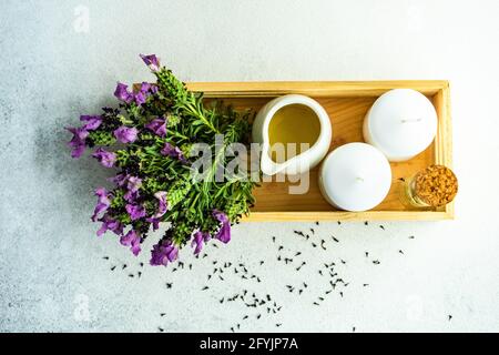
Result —
[{"label": "round white candle in the tray's upper right corner", "polygon": [[411,89],[384,93],[364,120],[364,139],[389,161],[409,160],[431,144],[437,133],[437,113],[431,102]]}]

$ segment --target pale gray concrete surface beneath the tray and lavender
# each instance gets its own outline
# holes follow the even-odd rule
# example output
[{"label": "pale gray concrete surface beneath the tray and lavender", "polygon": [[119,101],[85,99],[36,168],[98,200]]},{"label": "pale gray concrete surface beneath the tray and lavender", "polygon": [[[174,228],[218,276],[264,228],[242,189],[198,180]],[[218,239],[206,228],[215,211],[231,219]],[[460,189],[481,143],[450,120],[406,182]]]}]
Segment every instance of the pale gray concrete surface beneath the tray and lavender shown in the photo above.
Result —
[{"label": "pale gray concrete surface beneath the tray and lavender", "polygon": [[[486,0],[2,0],[0,331],[499,331],[498,12]],[[327,251],[293,235],[310,223],[243,224],[205,258],[185,251],[192,271],[141,267],[149,253],[94,236],[92,190],[108,172],[72,161],[62,128],[112,103],[118,80],[150,79],[138,53],[152,52],[185,81],[450,80],[456,221],[322,223],[313,240]],[[297,251],[301,272],[277,261]],[[201,291],[215,260],[262,283],[231,270]],[[330,261],[349,285],[316,306]],[[281,311],[218,302],[242,290]]]}]

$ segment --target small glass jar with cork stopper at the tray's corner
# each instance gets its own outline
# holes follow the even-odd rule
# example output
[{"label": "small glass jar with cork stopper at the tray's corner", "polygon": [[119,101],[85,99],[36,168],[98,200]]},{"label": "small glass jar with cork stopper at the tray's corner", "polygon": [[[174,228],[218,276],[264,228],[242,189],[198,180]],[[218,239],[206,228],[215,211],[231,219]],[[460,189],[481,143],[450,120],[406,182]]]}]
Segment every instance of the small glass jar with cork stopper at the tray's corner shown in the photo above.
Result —
[{"label": "small glass jar with cork stopper at the tray's corner", "polygon": [[430,165],[404,179],[400,201],[413,207],[441,207],[452,202],[458,192],[454,172],[444,165]]}]

